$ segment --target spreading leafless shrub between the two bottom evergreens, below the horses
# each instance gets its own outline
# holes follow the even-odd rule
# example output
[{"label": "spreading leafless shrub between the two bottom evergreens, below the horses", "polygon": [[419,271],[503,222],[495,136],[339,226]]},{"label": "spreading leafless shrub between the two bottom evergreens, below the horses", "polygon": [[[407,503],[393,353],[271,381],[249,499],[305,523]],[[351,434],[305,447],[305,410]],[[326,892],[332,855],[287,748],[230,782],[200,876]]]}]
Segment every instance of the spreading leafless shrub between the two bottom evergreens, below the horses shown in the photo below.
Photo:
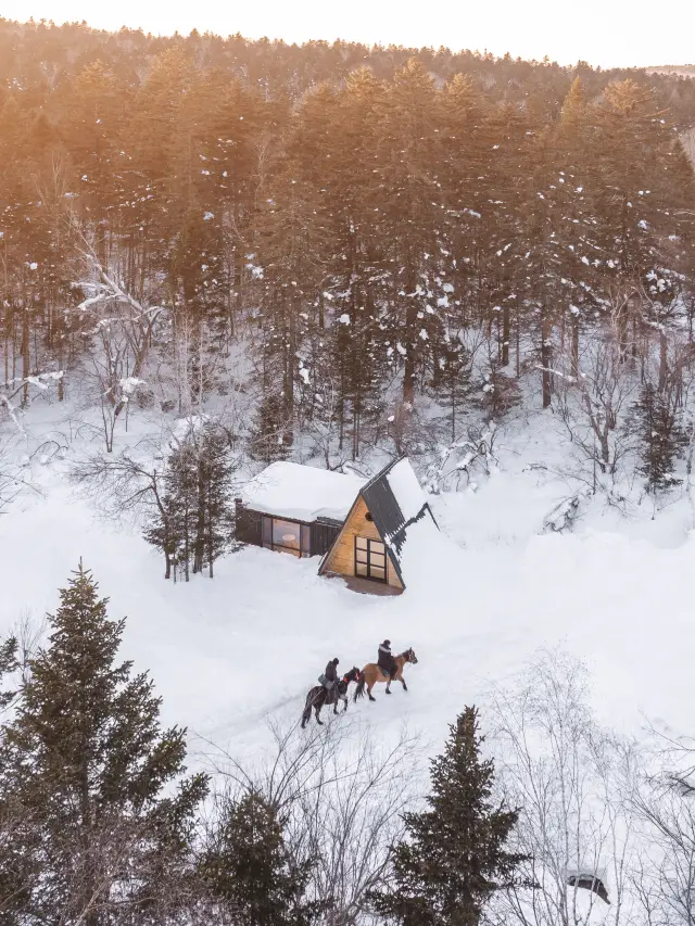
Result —
[{"label": "spreading leafless shrub between the two bottom evergreens, below the horses", "polygon": [[390,846],[403,833],[401,813],[416,795],[419,741],[403,730],[379,746],[368,728],[344,719],[301,737],[294,724],[270,730],[271,749],[256,768],[215,757],[225,783],[217,801],[263,795],[286,820],[298,862],[312,862],[309,891],[331,901],[327,923],[364,923],[365,896],[380,885]]}]

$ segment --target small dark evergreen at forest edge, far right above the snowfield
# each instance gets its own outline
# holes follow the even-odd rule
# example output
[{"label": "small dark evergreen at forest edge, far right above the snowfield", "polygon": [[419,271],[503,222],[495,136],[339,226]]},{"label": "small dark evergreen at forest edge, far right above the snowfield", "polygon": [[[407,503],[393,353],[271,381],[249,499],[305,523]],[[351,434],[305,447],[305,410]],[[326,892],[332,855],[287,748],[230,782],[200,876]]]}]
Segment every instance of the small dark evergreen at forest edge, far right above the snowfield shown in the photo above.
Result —
[{"label": "small dark evergreen at forest edge, far right above the snowfield", "polygon": [[642,386],[634,413],[640,437],[637,472],[645,477],[647,492],[674,487],[681,480],[673,475],[673,465],[687,446],[687,435],[677,413],[669,407],[667,396],[650,382]]}]

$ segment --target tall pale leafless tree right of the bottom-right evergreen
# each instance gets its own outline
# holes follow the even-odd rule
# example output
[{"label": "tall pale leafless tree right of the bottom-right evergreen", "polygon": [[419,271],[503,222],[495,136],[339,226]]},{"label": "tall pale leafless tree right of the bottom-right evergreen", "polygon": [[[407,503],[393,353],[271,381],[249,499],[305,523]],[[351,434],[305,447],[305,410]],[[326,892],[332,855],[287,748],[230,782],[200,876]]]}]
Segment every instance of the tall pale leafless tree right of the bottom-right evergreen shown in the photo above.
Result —
[{"label": "tall pale leafless tree right of the bottom-right evergreen", "polygon": [[521,808],[516,839],[533,885],[509,891],[496,922],[584,926],[606,904],[605,891],[603,922],[633,923],[634,814],[626,791],[634,786],[634,753],[593,719],[583,667],[542,654],[517,687],[494,690],[492,715],[500,779]]}]

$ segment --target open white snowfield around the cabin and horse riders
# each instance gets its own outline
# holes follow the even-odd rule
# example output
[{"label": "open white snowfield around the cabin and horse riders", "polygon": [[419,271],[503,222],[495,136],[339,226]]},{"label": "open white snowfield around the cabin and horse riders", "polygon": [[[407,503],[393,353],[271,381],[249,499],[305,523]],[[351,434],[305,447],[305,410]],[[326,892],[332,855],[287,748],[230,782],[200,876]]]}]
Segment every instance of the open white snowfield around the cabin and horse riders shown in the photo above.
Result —
[{"label": "open white snowfield around the cabin and horse riders", "polygon": [[36,464],[42,494],[24,495],[0,517],[0,632],[55,608],[83,557],[111,616],[128,616],[124,656],[151,671],[165,722],[187,725],[200,753],[212,740],[252,754],[267,737],[267,715],[299,718],[329,658],[362,667],[384,636],[419,659],[406,669],[407,694],[394,686],[386,698],[380,688],[376,703],[350,706],[384,734],[406,722],[440,748],[465,703],[484,703],[491,682],[556,646],[586,661],[606,723],[637,731],[648,718],[690,732],[690,506],[681,499],[656,520],[595,506],[573,534],[542,534],[567,486],[529,470],[563,453],[547,418],[533,433],[507,436],[501,471],[476,493],[433,499],[451,542],[428,562],[427,581],[396,598],[353,594],[319,579],[317,560],[254,548],[225,558],[213,581],[174,585],[137,530],[104,522],[75,496],[67,462]]}]

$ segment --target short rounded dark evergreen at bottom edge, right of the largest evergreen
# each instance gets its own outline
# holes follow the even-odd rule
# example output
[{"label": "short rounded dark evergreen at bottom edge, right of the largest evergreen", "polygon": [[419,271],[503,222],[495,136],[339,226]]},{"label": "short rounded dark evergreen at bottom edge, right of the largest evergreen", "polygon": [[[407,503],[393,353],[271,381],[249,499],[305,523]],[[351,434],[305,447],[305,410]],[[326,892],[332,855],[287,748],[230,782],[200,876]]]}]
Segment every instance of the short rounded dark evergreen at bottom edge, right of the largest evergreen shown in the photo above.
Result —
[{"label": "short rounded dark evergreen at bottom edge, right of the largest evergreen", "polygon": [[223,812],[201,871],[238,926],[309,926],[326,906],[305,900],[309,864],[294,861],[276,808],[253,790]]}]

